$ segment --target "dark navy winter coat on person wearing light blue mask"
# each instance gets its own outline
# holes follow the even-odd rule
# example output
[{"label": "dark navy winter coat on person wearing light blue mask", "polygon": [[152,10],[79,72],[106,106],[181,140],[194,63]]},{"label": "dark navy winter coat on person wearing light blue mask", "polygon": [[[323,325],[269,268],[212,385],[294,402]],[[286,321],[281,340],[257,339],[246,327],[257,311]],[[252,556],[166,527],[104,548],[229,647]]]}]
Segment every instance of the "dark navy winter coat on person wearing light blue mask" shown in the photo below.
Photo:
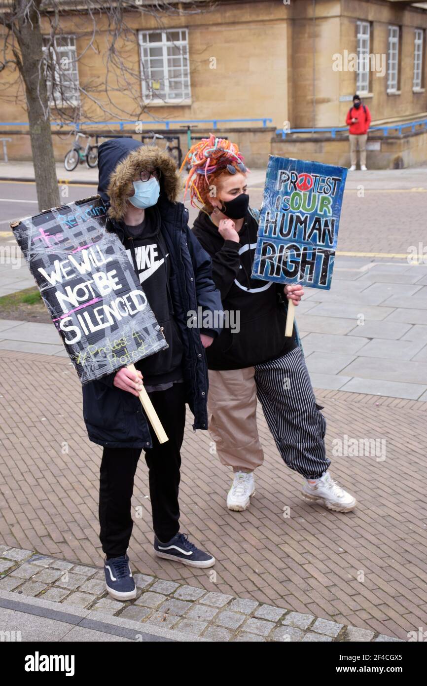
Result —
[{"label": "dark navy winter coat on person wearing light blue mask", "polygon": [[[132,139],[113,139],[108,141],[108,152],[115,154],[114,159],[117,158],[117,153],[123,158],[123,145],[129,145],[130,150],[134,150],[134,143],[136,141]],[[102,147],[99,147],[100,152]],[[141,154],[143,155],[144,151],[141,151]],[[164,154],[166,153],[162,153],[160,158]],[[105,153],[103,157],[106,157]],[[100,158],[102,160],[102,155]],[[108,160],[110,167],[113,162],[114,160]],[[114,167],[115,165],[112,165],[112,169]],[[102,189],[101,165],[99,176],[98,191],[103,200],[108,202],[105,185],[104,190]],[[108,178],[109,176],[108,174]],[[182,370],[186,402],[194,415],[193,429],[207,429],[206,355],[200,340],[200,329],[188,327],[187,313],[190,310],[197,312],[198,307],[208,311],[221,311],[221,296],[212,281],[210,257],[188,228],[187,209],[181,202],[171,202],[164,192],[160,193],[157,206],[161,215],[162,235],[171,258],[171,299],[184,342]],[[107,228],[114,230],[123,238],[123,232],[116,220],[108,220]],[[215,318],[213,320],[215,321]],[[219,333],[219,329],[215,329],[215,332]],[[212,335],[211,331],[205,333]],[[114,373],[83,386],[83,415],[90,440],[110,448],[150,448],[152,443],[149,424],[141,401],[129,392],[114,386],[113,381]]]}]

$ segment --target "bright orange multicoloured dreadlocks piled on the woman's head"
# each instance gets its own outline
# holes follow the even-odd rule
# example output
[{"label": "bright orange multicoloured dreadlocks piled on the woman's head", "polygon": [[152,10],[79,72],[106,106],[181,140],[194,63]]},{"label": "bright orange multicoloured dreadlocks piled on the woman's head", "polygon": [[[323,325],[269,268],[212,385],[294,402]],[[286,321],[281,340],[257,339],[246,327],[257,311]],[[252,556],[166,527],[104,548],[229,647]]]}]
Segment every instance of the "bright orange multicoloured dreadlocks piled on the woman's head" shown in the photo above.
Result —
[{"label": "bright orange multicoloured dreadlocks piled on the woman's head", "polygon": [[[213,134],[195,143],[188,150],[181,167],[182,171],[184,165],[191,164],[184,198],[190,189],[192,206],[206,211],[206,207],[210,206],[209,198],[212,197],[210,191],[212,185],[215,185],[215,179],[225,171],[229,174],[237,174],[239,171],[245,174],[249,169],[245,167],[243,160],[243,155],[235,143],[223,138],[215,138]],[[202,203],[202,208],[197,206],[196,200]]]}]

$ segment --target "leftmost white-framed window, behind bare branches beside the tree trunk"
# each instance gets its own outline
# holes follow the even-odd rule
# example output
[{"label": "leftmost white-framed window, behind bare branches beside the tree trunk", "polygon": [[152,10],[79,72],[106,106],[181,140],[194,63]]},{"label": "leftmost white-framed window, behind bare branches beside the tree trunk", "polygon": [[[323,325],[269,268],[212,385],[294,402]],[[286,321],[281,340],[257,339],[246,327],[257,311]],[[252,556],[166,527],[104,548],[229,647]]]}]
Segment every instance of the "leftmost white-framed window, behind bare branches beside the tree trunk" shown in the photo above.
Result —
[{"label": "leftmost white-framed window, behind bare branches beside the tree trunk", "polygon": [[80,100],[75,36],[43,36],[45,75],[51,105],[77,105]]}]

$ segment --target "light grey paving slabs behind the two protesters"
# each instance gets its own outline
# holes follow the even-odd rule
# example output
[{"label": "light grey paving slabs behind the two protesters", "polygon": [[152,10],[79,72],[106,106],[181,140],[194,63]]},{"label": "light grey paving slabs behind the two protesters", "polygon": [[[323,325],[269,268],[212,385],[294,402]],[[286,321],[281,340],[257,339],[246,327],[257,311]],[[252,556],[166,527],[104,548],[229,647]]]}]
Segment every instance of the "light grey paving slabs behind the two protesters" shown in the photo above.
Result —
[{"label": "light grey paving slabs behind the two protesters", "polygon": [[[313,386],[427,400],[426,314],[427,265],[339,257],[330,291],[306,288],[295,315]],[[66,357],[53,324],[0,320],[2,349]]]}]

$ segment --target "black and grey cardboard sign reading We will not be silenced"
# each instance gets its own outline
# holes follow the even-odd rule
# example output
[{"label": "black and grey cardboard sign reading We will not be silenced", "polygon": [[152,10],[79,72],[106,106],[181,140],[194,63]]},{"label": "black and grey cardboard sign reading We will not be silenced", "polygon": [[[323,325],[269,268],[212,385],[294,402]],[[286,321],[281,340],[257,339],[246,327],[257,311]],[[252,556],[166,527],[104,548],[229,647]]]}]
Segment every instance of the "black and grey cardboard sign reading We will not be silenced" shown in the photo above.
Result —
[{"label": "black and grey cardboard sign reading We will not be silenced", "polygon": [[12,222],[82,383],[153,355],[167,342],[99,196]]}]

